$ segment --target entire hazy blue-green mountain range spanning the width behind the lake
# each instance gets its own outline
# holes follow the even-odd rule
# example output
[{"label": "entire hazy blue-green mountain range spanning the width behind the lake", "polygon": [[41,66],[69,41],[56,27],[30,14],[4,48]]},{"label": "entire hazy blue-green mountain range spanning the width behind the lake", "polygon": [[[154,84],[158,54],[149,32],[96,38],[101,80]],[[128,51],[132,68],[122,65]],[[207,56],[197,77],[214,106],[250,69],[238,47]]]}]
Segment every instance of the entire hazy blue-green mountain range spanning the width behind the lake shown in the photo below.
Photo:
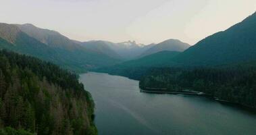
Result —
[{"label": "entire hazy blue-green mountain range spanning the width behind the lake", "polygon": [[95,69],[107,69],[109,72],[109,69],[128,70],[160,65],[220,65],[256,59],[255,22],[256,14],[253,14],[228,30],[208,36],[191,47],[177,39],[151,45],[135,41],[80,42],[32,24],[1,23],[0,47],[52,61],[76,72]]}]

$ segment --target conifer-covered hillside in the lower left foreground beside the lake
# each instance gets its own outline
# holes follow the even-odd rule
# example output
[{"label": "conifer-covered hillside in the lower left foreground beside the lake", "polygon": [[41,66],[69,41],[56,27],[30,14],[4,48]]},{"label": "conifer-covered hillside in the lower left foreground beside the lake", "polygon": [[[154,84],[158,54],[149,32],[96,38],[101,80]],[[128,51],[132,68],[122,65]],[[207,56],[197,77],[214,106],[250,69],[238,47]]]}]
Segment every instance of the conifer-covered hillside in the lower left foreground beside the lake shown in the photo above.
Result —
[{"label": "conifer-covered hillside in the lower left foreground beside the lake", "polygon": [[75,74],[0,51],[0,134],[97,134],[93,108]]}]

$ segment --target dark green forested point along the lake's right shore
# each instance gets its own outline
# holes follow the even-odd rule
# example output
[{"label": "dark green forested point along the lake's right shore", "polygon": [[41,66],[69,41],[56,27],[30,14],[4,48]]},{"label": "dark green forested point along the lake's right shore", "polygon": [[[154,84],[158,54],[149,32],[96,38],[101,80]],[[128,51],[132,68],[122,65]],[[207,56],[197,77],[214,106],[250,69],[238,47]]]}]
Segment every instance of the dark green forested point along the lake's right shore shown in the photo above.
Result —
[{"label": "dark green forested point along the lake's right shore", "polygon": [[256,108],[256,66],[161,68],[140,80],[140,88],[189,89]]}]

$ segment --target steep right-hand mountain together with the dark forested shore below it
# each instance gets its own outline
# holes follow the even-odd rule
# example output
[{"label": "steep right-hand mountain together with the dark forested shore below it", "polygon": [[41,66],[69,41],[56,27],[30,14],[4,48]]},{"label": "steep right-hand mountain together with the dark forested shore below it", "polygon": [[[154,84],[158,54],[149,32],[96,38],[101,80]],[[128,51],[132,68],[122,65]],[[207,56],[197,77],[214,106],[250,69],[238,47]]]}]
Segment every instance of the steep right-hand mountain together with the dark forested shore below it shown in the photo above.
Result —
[{"label": "steep right-hand mountain together with the dark forested shore below it", "polygon": [[256,13],[199,41],[171,61],[172,68],[144,74],[140,88],[197,90],[255,109]]}]

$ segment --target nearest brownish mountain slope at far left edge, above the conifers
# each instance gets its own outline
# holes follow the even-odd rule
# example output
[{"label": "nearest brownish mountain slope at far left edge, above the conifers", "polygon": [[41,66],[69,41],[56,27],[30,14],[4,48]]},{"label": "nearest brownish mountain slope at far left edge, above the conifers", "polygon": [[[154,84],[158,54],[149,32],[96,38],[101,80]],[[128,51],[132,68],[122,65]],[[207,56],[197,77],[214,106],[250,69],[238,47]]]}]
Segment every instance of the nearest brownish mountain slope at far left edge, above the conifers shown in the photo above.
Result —
[{"label": "nearest brownish mountain slope at far left edge, above the conifers", "polygon": [[31,38],[13,24],[0,23],[0,49],[9,49],[19,53],[37,55],[41,59],[52,59],[55,51],[47,45]]}]

